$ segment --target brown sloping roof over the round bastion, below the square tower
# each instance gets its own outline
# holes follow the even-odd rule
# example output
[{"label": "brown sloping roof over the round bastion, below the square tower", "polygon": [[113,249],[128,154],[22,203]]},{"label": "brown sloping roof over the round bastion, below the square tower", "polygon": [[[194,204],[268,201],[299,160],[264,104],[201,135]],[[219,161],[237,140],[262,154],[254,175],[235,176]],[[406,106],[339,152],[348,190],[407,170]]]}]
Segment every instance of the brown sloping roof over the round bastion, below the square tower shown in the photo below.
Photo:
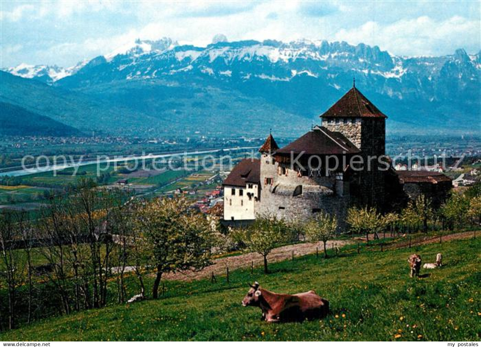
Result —
[{"label": "brown sloping roof over the round bastion, below the square tower", "polygon": [[276,156],[290,156],[293,154],[329,155],[354,154],[360,150],[342,133],[331,132],[325,127],[315,127],[297,140],[276,151]]}]

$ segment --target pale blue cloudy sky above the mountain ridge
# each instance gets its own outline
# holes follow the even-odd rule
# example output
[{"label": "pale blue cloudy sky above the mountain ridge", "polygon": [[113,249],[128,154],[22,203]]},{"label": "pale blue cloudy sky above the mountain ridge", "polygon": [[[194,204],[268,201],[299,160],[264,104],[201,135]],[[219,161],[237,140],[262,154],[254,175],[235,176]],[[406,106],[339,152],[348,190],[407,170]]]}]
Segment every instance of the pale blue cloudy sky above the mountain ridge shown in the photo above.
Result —
[{"label": "pale blue cloudy sky above the mountain ridge", "polygon": [[480,1],[4,1],[0,66],[71,66],[136,38],[300,38],[418,56],[481,49]]}]

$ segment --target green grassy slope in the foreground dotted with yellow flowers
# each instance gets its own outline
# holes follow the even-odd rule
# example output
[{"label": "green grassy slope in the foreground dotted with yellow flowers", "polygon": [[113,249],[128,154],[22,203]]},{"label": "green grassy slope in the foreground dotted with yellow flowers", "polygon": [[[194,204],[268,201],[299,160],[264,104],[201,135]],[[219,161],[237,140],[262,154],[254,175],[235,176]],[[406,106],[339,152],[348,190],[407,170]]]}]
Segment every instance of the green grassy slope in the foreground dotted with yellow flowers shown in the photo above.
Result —
[{"label": "green grassy slope in the foreground dotted with yellow flowers", "polygon": [[[230,284],[167,283],[167,298],[116,305],[35,323],[0,340],[479,340],[481,239],[416,249],[344,251],[328,260],[306,256],[271,265],[273,273],[231,273]],[[411,279],[406,259],[443,252],[446,266]],[[272,324],[243,308],[246,283],[277,292],[315,289],[329,299],[324,320]],[[342,317],[345,315],[345,317]],[[407,325],[408,324],[408,325]],[[416,327],[414,327],[416,325]],[[395,336],[399,334],[396,338]],[[419,337],[418,337],[419,336]]]}]

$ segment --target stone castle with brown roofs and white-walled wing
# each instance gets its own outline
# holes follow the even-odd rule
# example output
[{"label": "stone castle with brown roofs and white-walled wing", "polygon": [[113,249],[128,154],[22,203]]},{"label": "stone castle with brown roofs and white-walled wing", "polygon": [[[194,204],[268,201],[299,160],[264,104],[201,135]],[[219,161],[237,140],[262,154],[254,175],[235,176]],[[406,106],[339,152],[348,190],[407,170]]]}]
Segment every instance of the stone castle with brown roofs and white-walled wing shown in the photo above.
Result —
[{"label": "stone castle with brown roofs and white-walled wing", "polygon": [[223,184],[226,222],[307,219],[324,211],[342,227],[350,206],[387,211],[421,192],[442,200],[451,188],[449,178],[433,172],[410,175],[416,189],[405,184],[385,154],[386,115],[355,85],[320,118],[320,126],[282,148],[269,134],[260,159],[232,169]]}]

